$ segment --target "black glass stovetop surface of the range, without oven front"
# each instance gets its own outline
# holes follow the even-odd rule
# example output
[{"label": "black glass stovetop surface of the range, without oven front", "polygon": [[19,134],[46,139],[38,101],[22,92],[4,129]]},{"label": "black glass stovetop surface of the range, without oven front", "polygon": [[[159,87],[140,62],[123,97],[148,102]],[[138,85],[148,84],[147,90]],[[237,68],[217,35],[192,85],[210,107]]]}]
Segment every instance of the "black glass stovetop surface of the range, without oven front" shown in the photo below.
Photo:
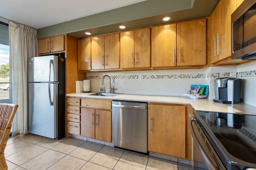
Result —
[{"label": "black glass stovetop surface of the range, without oven front", "polygon": [[194,117],[226,166],[256,168],[256,115],[194,111]]}]

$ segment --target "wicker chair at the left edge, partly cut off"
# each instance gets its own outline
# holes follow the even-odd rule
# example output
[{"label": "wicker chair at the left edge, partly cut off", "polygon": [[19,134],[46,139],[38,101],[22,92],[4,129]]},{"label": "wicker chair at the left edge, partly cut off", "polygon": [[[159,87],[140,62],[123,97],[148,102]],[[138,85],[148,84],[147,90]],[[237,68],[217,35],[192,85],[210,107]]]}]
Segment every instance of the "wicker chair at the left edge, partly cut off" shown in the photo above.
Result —
[{"label": "wicker chair at the left edge, partly cut off", "polygon": [[0,103],[0,169],[7,170],[4,149],[10,136],[12,120],[18,105]]}]

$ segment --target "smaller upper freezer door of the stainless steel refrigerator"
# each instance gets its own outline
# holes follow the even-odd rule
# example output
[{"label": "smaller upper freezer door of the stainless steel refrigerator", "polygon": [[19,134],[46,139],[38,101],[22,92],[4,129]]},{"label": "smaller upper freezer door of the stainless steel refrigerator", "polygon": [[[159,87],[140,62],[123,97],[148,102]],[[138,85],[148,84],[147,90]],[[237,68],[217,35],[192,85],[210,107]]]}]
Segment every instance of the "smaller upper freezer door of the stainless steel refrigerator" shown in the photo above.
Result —
[{"label": "smaller upper freezer door of the stainless steel refrigerator", "polygon": [[28,82],[58,82],[58,56],[28,58]]}]

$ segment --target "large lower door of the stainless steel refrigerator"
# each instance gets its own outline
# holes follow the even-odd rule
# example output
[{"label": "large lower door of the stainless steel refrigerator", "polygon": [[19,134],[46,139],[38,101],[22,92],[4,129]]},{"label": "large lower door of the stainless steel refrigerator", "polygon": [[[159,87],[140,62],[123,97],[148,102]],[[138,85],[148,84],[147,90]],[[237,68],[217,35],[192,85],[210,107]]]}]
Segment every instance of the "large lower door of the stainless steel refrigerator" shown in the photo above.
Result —
[{"label": "large lower door of the stainless steel refrigerator", "polygon": [[58,84],[29,83],[28,88],[29,132],[55,139],[58,137]]}]

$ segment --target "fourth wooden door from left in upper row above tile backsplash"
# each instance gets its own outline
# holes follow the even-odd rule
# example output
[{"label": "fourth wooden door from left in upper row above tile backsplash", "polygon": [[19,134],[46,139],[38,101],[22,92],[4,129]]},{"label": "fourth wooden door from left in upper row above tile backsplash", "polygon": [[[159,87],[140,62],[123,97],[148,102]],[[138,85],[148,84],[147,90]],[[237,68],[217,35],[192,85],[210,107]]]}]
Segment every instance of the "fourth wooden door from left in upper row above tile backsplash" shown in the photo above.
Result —
[{"label": "fourth wooden door from left in upper row above tile backsplash", "polygon": [[120,68],[134,68],[134,31],[120,33]]}]

